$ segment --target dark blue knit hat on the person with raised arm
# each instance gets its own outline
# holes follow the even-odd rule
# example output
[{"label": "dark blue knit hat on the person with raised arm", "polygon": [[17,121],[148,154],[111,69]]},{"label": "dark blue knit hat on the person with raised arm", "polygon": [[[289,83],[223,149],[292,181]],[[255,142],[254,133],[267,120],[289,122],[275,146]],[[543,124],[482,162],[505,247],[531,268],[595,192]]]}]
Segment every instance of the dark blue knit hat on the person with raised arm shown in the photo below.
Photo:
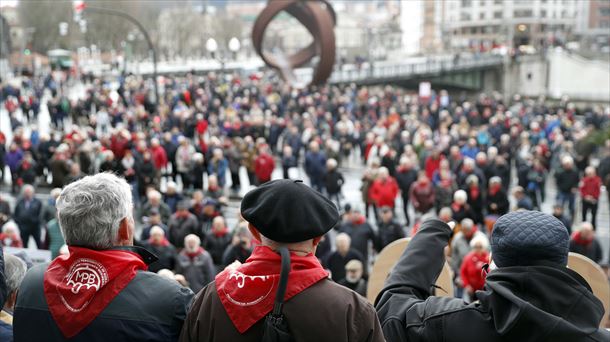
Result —
[{"label": "dark blue knit hat on the person with raised arm", "polygon": [[541,262],[566,266],[570,236],[554,216],[520,210],[501,216],[491,234],[491,254],[498,267]]}]

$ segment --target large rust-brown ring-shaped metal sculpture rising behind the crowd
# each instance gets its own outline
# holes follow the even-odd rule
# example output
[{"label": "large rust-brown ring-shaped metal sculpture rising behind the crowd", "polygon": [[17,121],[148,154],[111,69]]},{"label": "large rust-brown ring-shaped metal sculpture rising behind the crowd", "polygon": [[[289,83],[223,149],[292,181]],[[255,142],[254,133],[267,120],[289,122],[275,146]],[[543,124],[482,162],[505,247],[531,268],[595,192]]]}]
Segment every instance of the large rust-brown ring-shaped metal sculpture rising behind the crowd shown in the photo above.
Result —
[{"label": "large rust-brown ring-shaped metal sculpture rising behind the crowd", "polygon": [[[281,11],[286,11],[297,19],[313,37],[311,44],[284,60],[263,51],[265,30]],[[263,61],[280,71],[282,78],[286,81],[293,78],[294,68],[319,56],[319,62],[314,69],[311,81],[311,84],[318,85],[326,82],[335,63],[335,32],[333,30],[335,24],[335,11],[326,0],[269,0],[267,7],[256,18],[252,28],[252,43]]]}]

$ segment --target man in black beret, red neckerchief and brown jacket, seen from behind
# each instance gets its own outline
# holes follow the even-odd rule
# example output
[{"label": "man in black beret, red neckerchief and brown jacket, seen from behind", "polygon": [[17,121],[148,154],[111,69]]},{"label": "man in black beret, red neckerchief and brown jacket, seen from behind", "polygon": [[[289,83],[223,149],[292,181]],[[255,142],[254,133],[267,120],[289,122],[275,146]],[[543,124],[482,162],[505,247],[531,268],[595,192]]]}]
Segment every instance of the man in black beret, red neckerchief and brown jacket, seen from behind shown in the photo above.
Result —
[{"label": "man in black beret, red neckerchief and brown jacket, seen from behind", "polygon": [[244,197],[241,215],[260,245],[206,286],[180,341],[261,341],[280,277],[280,247],[290,251],[282,314],[296,341],[384,341],[364,298],[328,279],[315,251],[339,221],[335,205],[302,181],[267,182]]}]

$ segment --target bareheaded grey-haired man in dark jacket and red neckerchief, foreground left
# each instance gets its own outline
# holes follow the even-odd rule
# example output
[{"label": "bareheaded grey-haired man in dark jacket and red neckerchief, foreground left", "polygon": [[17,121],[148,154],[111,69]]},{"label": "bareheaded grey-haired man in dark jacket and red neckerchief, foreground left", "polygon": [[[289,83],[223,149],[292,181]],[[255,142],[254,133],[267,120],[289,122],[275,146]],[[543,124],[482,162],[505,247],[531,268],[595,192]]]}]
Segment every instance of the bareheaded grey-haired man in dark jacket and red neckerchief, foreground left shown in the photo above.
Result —
[{"label": "bareheaded grey-haired man in dark jacket and red neckerchief, foreground left", "polygon": [[16,341],[175,341],[193,293],[147,272],[156,257],[133,246],[131,189],[110,173],[66,186],[57,217],[70,251],[26,275]]}]

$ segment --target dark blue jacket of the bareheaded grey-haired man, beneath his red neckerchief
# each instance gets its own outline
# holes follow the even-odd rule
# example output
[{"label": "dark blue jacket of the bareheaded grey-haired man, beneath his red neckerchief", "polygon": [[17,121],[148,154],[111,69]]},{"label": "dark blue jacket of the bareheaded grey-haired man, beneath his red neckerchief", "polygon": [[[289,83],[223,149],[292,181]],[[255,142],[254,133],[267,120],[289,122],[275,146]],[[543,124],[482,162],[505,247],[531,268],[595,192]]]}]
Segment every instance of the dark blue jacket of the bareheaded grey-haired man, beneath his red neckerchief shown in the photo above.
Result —
[{"label": "dark blue jacket of the bareheaded grey-haired man, beneath his red neckerchief", "polygon": [[[141,250],[138,253],[148,253]],[[13,320],[16,341],[66,340],[44,296],[47,266],[30,269],[21,284]],[[192,299],[193,292],[177,282],[139,271],[104,311],[70,341],[176,341]]]}]

